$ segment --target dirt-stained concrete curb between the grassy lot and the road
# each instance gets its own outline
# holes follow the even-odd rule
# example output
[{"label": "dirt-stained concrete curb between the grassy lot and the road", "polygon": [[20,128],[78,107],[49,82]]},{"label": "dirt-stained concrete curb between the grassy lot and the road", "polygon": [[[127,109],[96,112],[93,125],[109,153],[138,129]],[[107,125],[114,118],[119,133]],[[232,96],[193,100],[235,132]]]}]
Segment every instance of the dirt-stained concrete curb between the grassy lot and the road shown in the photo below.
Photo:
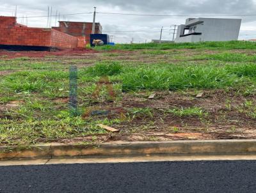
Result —
[{"label": "dirt-stained concrete curb between the grassy lot and the road", "polygon": [[0,147],[0,159],[133,155],[256,154],[256,140],[122,142],[96,145],[44,144],[29,150]]}]

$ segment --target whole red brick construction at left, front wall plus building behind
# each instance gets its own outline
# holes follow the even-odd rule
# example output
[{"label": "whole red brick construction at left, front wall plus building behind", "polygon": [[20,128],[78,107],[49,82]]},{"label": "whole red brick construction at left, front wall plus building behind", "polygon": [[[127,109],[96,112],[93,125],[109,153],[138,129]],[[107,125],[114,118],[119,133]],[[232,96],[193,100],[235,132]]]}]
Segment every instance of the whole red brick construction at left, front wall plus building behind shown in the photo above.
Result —
[{"label": "whole red brick construction at left, front wall plus building behind", "polygon": [[[91,22],[60,21],[59,27],[39,28],[17,24],[16,17],[0,16],[0,49],[49,50],[85,47],[90,42]],[[99,23],[95,33],[102,33]]]}]

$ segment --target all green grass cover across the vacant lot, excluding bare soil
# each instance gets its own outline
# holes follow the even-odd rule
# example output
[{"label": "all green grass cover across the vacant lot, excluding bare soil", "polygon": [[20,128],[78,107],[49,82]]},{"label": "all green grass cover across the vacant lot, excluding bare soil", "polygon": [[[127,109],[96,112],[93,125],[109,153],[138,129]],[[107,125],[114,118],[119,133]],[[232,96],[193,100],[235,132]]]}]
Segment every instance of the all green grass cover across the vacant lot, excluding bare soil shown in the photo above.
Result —
[{"label": "all green grass cover across the vacant lot, excluding bare soil", "polygon": [[[225,89],[227,95],[223,97],[229,97],[229,99],[235,91],[234,95],[248,98],[248,102],[240,109],[241,113],[248,118],[255,118],[255,100],[253,99],[256,96],[255,56],[241,54],[239,50],[232,52],[232,49],[255,48],[256,44],[252,42],[144,43],[95,48],[141,50],[132,52],[127,59],[116,57],[122,54],[108,52],[94,58],[88,58],[88,56],[77,58],[76,56],[74,58],[8,59],[4,56],[0,60],[0,71],[10,70],[10,72],[0,75],[0,105],[6,105],[14,100],[20,101],[21,104],[7,111],[0,110],[0,144],[29,146],[65,138],[106,134],[105,130],[97,127],[97,123],[113,125],[113,127],[123,124],[120,126],[125,125],[125,128],[129,125],[125,132],[129,132],[131,125],[133,128],[141,128],[141,125],[136,125],[139,122],[136,122],[136,118],[145,118],[152,122],[162,119],[158,117],[161,114],[154,114],[156,111],[153,111],[152,107],[154,100],[161,100],[161,95],[156,95],[152,100],[148,99],[148,93],[157,94],[157,91],[169,95],[168,91],[185,93],[193,90],[193,93],[196,93],[195,91],[204,91],[204,89]],[[216,50],[216,54],[204,54],[204,50],[212,49]],[[250,52],[252,54],[253,50]],[[106,56],[111,56],[111,61],[108,61],[109,58]],[[175,61],[170,63],[173,59]],[[79,111],[84,112],[91,107],[102,109],[121,106],[125,108],[124,120],[118,117],[118,113],[113,114],[113,118],[90,117],[84,120],[81,116],[70,117],[67,103],[70,64],[79,67],[77,90]],[[86,66],[93,64],[95,65]],[[92,97],[97,82],[102,76],[109,76],[113,83],[116,92],[114,100],[109,100],[106,86],[102,86],[97,98]],[[180,96],[180,94],[177,95]],[[171,94],[170,97],[172,96]],[[61,102],[60,98],[65,98],[65,102]],[[207,112],[198,107],[198,103],[195,104],[195,100],[201,100],[200,98],[195,98],[188,93],[186,100],[191,102],[190,108],[175,108],[175,105],[165,113],[173,114],[181,120],[207,116]],[[230,109],[236,110],[232,102],[230,102]],[[210,119],[211,116],[208,118]],[[166,123],[164,119],[162,121]],[[146,130],[150,127],[154,128],[154,124],[150,127],[148,124],[142,127]],[[175,128],[173,132],[181,130],[181,127],[180,130]]]}]

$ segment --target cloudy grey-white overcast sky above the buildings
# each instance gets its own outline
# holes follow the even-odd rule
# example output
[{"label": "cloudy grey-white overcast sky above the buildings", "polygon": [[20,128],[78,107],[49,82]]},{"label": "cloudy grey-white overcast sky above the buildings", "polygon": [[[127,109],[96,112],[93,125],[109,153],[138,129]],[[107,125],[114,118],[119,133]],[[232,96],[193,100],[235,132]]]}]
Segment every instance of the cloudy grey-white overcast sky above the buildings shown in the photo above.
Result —
[{"label": "cloudy grey-white overcast sky above the buildings", "polygon": [[[241,18],[242,26],[239,39],[256,38],[256,0],[0,0],[0,15],[14,15],[17,5],[17,17],[47,15],[47,6],[52,7],[52,15],[93,12],[142,13],[155,15],[250,15]],[[115,42],[145,42],[158,39],[160,29],[164,27],[163,39],[172,39],[170,26],[184,24],[187,17],[151,17],[134,15],[108,15],[97,13],[96,20],[104,31],[114,36]],[[221,17],[223,18],[223,17]],[[61,16],[61,20],[64,18]],[[93,15],[68,15],[65,20],[92,22]],[[55,26],[52,17],[52,26]],[[19,23],[27,24],[26,19],[19,18]],[[28,18],[28,26],[47,27],[47,17]],[[255,30],[255,31],[253,31]],[[111,31],[111,32],[109,32]],[[120,32],[129,31],[129,32]]]}]

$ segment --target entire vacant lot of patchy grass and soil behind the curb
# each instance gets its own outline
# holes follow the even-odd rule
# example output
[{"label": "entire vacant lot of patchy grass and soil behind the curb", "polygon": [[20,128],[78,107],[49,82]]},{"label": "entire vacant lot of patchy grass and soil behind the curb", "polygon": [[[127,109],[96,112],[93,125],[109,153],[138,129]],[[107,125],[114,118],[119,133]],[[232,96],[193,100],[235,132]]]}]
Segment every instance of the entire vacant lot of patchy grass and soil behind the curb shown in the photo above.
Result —
[{"label": "entire vacant lot of patchy grass and soil behind the curb", "polygon": [[[206,42],[40,58],[0,52],[0,145],[254,139],[255,49],[251,42]],[[78,116],[68,108],[70,65],[78,67]]]}]

